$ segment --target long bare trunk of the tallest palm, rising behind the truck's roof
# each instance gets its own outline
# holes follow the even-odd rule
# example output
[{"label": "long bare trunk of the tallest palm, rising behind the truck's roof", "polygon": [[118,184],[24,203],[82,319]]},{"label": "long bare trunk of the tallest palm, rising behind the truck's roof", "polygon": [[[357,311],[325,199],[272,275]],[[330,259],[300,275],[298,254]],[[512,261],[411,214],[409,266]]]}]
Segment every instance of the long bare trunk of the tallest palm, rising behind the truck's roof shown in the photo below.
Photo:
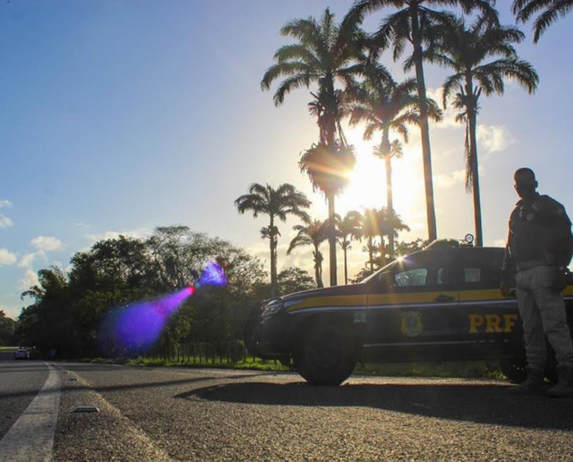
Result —
[{"label": "long bare trunk of the tallest palm, rising behind the truck's roof", "polygon": [[430,241],[437,239],[434,207],[434,184],[431,173],[430,128],[426,104],[426,82],[424,79],[422,37],[418,22],[418,11],[411,11],[412,40],[414,45],[414,64],[418,87],[418,104],[420,106],[420,131],[422,135],[422,160],[424,166],[424,184],[426,189],[426,215]]}]

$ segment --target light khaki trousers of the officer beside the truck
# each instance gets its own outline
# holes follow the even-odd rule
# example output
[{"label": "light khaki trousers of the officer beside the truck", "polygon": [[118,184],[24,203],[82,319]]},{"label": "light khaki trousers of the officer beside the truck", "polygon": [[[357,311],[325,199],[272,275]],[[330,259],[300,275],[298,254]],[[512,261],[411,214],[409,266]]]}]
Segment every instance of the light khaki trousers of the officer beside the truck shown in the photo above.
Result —
[{"label": "light khaki trousers of the officer beside the truck", "polygon": [[516,274],[517,303],[530,369],[545,369],[545,335],[555,350],[558,366],[573,368],[573,342],[565,303],[561,293],[552,287],[554,276],[555,268],[551,266],[536,266]]}]

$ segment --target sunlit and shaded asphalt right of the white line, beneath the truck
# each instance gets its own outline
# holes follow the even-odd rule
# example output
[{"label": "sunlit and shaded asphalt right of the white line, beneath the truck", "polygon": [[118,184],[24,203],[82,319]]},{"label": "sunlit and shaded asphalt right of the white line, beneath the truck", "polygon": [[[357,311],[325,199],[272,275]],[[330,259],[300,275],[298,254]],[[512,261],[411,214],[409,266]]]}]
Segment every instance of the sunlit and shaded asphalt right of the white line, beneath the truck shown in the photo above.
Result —
[{"label": "sunlit and shaded asphalt right of the white line, beneath the truck", "polygon": [[[573,460],[573,399],[497,381],[57,364],[56,461]],[[4,374],[2,374],[3,378]],[[98,413],[73,413],[77,406]]]}]

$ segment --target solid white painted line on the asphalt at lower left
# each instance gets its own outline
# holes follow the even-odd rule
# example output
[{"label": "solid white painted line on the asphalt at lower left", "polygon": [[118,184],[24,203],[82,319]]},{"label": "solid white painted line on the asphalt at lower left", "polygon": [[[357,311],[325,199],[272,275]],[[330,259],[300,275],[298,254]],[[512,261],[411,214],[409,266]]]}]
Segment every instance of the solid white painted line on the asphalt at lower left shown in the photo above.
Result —
[{"label": "solid white painted line on the asphalt at lower left", "polygon": [[0,460],[35,462],[52,460],[54,433],[60,407],[60,377],[48,366],[48,379],[12,428],[0,440]]}]

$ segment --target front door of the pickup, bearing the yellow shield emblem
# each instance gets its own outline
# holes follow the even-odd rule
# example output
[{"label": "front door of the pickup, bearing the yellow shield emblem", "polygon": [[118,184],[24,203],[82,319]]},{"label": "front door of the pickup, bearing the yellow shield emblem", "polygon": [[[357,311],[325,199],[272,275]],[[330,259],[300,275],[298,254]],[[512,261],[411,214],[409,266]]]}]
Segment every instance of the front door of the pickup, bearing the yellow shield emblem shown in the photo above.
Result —
[{"label": "front door of the pickup, bearing the yellow shield emblem", "polygon": [[386,360],[439,358],[460,333],[455,254],[407,256],[380,274],[367,298],[368,346]]}]

